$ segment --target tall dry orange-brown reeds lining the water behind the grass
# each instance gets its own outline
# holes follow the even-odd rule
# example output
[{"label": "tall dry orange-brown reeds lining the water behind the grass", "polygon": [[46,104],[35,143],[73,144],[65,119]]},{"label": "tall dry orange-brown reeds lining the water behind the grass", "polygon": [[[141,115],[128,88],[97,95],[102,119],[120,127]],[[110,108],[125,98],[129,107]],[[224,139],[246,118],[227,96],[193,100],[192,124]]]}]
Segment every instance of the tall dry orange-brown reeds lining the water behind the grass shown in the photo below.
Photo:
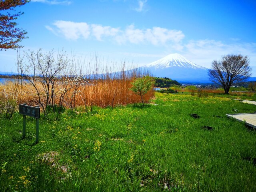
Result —
[{"label": "tall dry orange-brown reeds lining the water behind the grass", "polygon": [[[107,66],[100,69],[98,63],[88,64],[78,61],[69,64],[69,68],[56,77],[54,85],[50,85],[52,96],[48,102],[54,106],[64,106],[76,109],[76,106],[119,106],[140,102],[140,96],[134,94],[130,88],[135,78],[149,75],[148,71],[139,68],[126,68],[125,62],[118,69]],[[98,62],[98,60],[94,60]],[[86,67],[84,67],[86,66]],[[112,70],[111,70],[112,69]],[[20,78],[20,77],[19,77]],[[47,95],[40,77],[37,77],[36,88],[42,103],[46,103]],[[22,83],[21,83],[22,82]],[[0,84],[0,92],[12,96],[17,103],[38,105],[38,93],[31,83],[24,80],[8,81]],[[145,102],[154,96],[152,89],[144,95]]]}]

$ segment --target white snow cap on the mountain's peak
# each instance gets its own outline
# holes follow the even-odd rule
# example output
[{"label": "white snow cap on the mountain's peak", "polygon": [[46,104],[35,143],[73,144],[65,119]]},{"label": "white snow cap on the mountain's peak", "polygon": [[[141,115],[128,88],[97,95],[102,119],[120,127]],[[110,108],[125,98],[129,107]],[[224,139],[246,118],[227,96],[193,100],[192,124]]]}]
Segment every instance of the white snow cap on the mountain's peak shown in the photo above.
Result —
[{"label": "white snow cap on the mountain's peak", "polygon": [[169,67],[182,67],[182,68],[193,68],[193,69],[207,69],[205,67],[199,66],[187,60],[184,56],[174,53],[165,56],[155,62],[147,64],[145,67],[155,67],[155,68],[169,68]]}]

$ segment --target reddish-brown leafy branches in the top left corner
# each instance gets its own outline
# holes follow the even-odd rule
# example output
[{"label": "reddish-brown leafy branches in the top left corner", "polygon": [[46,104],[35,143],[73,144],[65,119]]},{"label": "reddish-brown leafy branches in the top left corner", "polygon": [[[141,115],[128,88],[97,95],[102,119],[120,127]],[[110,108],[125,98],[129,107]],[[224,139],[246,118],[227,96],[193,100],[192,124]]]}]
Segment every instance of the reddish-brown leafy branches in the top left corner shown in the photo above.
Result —
[{"label": "reddish-brown leafy branches in the top left corner", "polygon": [[12,10],[14,7],[22,6],[28,3],[29,0],[0,0],[0,50],[15,49],[22,46],[18,45],[19,42],[24,38],[28,38],[25,35],[27,32],[22,28],[17,28],[18,25],[14,20],[16,20],[23,12],[18,12],[16,14],[10,14],[3,11]]}]

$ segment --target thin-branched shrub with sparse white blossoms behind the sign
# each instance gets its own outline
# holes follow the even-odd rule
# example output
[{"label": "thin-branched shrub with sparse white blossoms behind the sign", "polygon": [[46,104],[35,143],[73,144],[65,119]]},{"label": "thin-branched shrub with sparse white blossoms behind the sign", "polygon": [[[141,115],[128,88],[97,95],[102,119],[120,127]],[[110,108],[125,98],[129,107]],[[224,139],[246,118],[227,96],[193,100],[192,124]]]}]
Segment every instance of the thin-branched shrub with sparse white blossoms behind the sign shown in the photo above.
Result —
[{"label": "thin-branched shrub with sparse white blossoms behind the sign", "polygon": [[[46,114],[48,105],[54,105],[56,80],[68,64],[66,52],[59,52],[57,57],[54,57],[53,50],[42,53],[40,49],[36,53],[34,51],[26,52],[25,57],[28,63],[19,59],[22,76],[35,88],[38,102]],[[42,99],[40,89],[44,91],[44,99]]]}]

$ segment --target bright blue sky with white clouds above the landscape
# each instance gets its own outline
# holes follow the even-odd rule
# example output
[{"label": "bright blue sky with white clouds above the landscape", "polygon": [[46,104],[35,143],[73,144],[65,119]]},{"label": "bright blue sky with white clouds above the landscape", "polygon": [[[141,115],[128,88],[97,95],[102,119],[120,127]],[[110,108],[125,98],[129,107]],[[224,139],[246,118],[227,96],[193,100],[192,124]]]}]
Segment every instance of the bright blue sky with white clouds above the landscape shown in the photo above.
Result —
[{"label": "bright blue sky with white clouds above the landscape", "polygon": [[[142,66],[171,53],[210,68],[225,54],[250,58],[256,76],[255,0],[31,0],[19,27],[23,51],[97,54]],[[0,52],[0,71],[14,71],[16,50]]]}]

